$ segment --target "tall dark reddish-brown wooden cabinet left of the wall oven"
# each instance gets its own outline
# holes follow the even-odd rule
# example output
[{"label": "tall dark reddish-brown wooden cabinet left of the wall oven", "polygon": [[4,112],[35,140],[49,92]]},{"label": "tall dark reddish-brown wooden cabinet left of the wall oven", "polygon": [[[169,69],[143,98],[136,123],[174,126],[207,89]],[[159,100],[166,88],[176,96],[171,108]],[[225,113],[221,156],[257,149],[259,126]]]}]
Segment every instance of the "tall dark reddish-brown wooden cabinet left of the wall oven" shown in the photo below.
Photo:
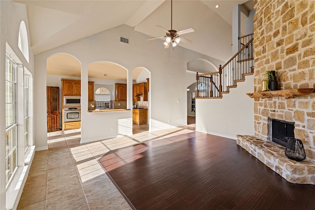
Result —
[{"label": "tall dark reddish-brown wooden cabinet left of the wall oven", "polygon": [[59,87],[47,87],[47,132],[59,130]]}]

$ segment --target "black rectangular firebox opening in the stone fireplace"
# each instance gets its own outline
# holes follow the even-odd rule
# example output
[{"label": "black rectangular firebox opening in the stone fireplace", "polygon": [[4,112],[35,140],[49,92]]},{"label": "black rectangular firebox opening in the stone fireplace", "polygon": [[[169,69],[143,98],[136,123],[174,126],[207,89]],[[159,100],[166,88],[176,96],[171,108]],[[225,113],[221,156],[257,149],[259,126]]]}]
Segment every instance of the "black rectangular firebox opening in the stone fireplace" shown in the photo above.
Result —
[{"label": "black rectangular firebox opening in the stone fireplace", "polygon": [[294,138],[294,122],[271,120],[272,141],[285,147],[289,138]]}]

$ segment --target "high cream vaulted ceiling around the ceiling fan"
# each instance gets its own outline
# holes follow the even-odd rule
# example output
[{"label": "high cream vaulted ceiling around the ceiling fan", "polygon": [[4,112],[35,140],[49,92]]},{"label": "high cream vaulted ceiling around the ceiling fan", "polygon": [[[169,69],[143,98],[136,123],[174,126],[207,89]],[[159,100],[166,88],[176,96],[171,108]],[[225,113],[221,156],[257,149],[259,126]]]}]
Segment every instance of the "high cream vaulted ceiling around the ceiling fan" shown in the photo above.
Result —
[{"label": "high cream vaulted ceiling around the ceiling fan", "polygon": [[[170,0],[14,0],[27,4],[33,53],[53,49],[122,24],[150,37],[171,29]],[[232,52],[232,7],[252,9],[252,0],[173,0],[173,29],[193,28],[179,45],[227,60]],[[216,8],[216,5],[220,5]],[[247,17],[242,16],[244,21]],[[244,26],[241,22],[241,26]],[[242,33],[245,28],[242,27]],[[161,47],[163,47],[161,40]]]}]

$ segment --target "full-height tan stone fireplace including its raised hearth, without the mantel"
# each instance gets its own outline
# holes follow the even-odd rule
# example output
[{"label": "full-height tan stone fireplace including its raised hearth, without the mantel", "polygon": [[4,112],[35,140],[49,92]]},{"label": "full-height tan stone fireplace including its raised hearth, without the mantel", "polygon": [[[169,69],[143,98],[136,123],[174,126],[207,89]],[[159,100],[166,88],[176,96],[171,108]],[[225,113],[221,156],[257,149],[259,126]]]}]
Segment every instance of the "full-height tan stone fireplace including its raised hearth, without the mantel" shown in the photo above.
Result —
[{"label": "full-height tan stone fireplace including its raised hearth, without the mantel", "polygon": [[[275,70],[280,90],[315,87],[315,1],[254,0],[254,92],[266,71]],[[272,141],[272,120],[292,124],[306,159],[288,159]],[[293,183],[315,184],[315,93],[254,99],[254,136],[237,144]],[[292,135],[288,131],[288,135]]]}]

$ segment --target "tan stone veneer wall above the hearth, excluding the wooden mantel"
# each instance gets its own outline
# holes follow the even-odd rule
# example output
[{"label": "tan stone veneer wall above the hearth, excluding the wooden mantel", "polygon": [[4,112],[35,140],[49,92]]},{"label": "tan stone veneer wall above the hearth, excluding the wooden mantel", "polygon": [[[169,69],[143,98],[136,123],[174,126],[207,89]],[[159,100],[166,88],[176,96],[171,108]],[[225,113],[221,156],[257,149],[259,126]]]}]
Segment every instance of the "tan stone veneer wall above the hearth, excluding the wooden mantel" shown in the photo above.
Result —
[{"label": "tan stone veneer wall above the hearth, excluding the wooden mantel", "polygon": [[[254,91],[275,70],[279,89],[315,86],[315,0],[254,0]],[[295,122],[307,158],[315,161],[315,93],[254,102],[255,136],[270,140],[270,118]]]}]

